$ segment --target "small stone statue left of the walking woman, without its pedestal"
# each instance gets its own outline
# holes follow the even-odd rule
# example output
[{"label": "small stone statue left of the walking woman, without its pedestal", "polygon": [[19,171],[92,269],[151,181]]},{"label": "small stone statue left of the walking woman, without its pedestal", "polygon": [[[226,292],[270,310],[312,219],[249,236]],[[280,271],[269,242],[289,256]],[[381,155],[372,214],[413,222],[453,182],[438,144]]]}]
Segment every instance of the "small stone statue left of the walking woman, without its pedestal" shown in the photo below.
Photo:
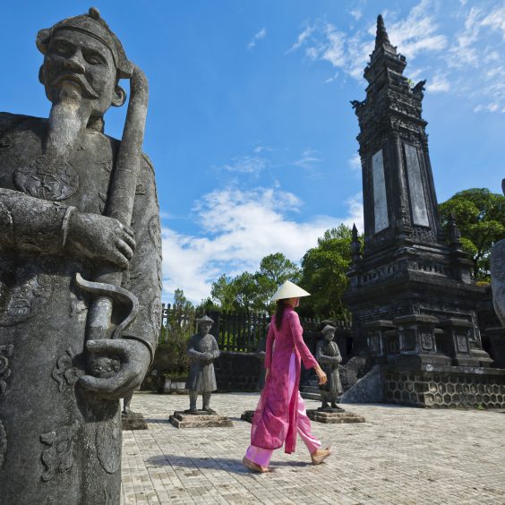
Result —
[{"label": "small stone statue left of the walking woman, without its pedestal", "polygon": [[190,391],[190,408],[186,413],[197,414],[196,400],[198,394],[202,396],[202,410],[207,414],[215,414],[210,408],[210,395],[218,389],[214,360],[219,357],[216,338],[210,335],[214,321],[209,316],[203,316],[196,321],[198,333],[188,340],[187,353],[190,358],[190,374],[186,382],[186,389]]}]

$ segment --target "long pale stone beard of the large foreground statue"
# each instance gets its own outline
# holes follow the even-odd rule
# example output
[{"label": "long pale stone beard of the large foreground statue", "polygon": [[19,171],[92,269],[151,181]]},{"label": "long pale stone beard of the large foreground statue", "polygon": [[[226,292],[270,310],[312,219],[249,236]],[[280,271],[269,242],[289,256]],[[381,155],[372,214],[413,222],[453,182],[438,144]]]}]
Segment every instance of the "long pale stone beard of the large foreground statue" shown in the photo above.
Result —
[{"label": "long pale stone beard of the large foreground statue", "polygon": [[73,150],[86,127],[83,106],[80,88],[73,83],[64,84],[59,100],[51,107],[46,137],[48,156],[67,158]]}]

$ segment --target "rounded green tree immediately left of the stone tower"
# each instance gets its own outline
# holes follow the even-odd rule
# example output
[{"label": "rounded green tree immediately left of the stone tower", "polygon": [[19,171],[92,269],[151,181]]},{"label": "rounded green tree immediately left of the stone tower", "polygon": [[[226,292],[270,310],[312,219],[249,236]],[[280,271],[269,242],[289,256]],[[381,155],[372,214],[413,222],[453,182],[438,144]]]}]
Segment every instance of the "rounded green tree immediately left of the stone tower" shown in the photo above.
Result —
[{"label": "rounded green tree immediately left of the stone tower", "polygon": [[342,295],[347,289],[347,270],[351,264],[350,227],[342,224],[327,230],[317,246],[302,259],[302,286],[312,296],[306,298],[300,312],[306,316],[349,319]]}]

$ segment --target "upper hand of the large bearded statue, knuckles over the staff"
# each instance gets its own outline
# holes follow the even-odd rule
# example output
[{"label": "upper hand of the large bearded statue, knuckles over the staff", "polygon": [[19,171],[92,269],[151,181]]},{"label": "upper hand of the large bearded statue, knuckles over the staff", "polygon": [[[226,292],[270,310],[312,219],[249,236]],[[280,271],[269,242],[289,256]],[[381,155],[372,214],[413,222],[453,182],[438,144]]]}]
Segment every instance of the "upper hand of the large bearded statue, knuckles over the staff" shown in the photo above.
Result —
[{"label": "upper hand of the large bearded statue, knuckles over the staff", "polygon": [[84,256],[110,261],[122,269],[133,258],[133,229],[117,219],[73,211],[68,224],[67,241]]}]

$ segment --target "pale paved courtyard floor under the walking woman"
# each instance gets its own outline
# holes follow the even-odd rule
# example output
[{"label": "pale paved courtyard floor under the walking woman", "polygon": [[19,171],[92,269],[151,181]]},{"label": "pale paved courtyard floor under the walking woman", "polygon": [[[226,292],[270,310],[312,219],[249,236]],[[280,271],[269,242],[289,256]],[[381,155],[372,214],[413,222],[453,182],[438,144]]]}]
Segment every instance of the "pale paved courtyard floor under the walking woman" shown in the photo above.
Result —
[{"label": "pale paved courtyard floor under the walking woman", "polygon": [[[200,402],[199,398],[199,402]],[[149,430],[124,432],[123,503],[505,504],[505,413],[348,405],[364,424],[312,423],[333,455],[312,466],[302,441],[278,450],[270,474],[242,466],[255,393],[218,394],[211,405],[232,428],[177,430],[188,397],[138,393]],[[306,400],[307,408],[319,407]]]}]

